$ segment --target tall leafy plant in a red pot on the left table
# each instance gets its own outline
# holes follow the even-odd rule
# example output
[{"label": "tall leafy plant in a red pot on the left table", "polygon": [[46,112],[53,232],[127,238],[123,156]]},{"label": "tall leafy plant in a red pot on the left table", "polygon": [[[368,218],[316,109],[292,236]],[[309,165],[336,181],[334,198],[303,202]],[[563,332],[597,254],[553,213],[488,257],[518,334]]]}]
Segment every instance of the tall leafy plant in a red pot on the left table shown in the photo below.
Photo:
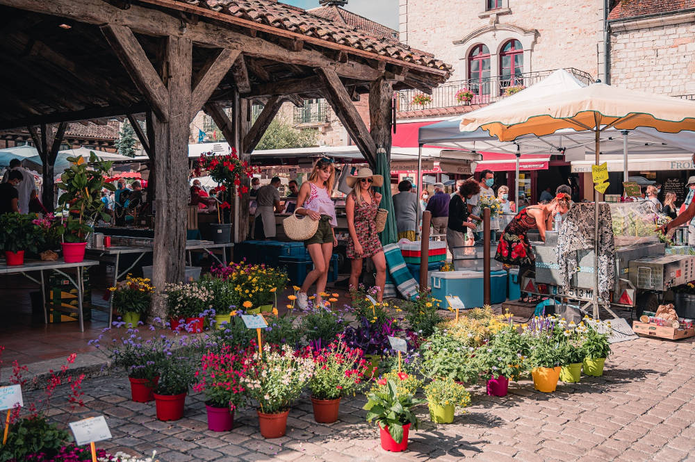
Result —
[{"label": "tall leafy plant in a red pot on the left table", "polygon": [[101,191],[115,191],[113,183],[106,182],[111,170],[111,162],[104,162],[90,151],[90,170],[82,156],[68,157],[72,163],[56,183],[65,192],[58,197],[58,211],[65,215],[63,229],[63,259],[65,263],[78,263],[84,260],[87,235],[92,225],[100,217],[104,221],[111,217],[104,211]]}]

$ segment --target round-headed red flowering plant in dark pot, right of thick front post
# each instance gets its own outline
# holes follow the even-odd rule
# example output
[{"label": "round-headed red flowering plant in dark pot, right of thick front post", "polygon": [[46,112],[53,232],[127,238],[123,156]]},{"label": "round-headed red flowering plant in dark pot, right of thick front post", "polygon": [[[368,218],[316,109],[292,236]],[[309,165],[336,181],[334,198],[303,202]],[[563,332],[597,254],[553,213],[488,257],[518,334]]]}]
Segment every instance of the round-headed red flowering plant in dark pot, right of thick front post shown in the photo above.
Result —
[{"label": "round-headed red flowering plant in dark pot, right of thick front post", "polygon": [[254,169],[246,160],[240,160],[236,149],[231,148],[231,153],[226,156],[215,156],[213,152],[200,154],[195,170],[196,176],[207,174],[218,182],[218,223],[211,224],[213,240],[216,243],[229,242],[231,240],[231,223],[225,223],[224,213],[220,215],[220,209],[229,208],[233,191],[238,192],[239,197],[249,191],[245,185],[241,185],[242,178],[250,178]]}]

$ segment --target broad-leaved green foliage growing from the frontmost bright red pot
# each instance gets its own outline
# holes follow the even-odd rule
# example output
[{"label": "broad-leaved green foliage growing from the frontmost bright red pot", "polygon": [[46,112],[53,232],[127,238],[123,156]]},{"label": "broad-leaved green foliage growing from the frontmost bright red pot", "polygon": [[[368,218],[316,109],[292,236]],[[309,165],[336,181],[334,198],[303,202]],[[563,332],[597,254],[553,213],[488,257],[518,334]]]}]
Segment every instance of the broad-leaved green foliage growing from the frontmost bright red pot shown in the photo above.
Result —
[{"label": "broad-leaved green foliage growing from the frontmost bright red pot", "polygon": [[411,424],[413,429],[418,429],[418,418],[413,408],[424,402],[415,398],[414,392],[407,387],[399,387],[400,382],[409,378],[404,372],[399,374],[396,379],[379,379],[367,393],[367,404],[362,408],[367,411],[367,422],[376,420],[379,427],[388,427],[396,443],[403,440],[403,425]]}]

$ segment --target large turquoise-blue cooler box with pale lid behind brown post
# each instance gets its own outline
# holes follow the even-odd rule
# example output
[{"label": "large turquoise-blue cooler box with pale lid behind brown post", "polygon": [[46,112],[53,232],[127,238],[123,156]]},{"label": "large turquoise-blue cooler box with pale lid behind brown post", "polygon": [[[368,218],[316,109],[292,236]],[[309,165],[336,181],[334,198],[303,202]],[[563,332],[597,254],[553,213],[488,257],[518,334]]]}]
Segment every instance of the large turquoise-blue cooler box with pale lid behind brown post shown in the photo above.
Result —
[{"label": "large turquoise-blue cooler box with pale lid behind brown post", "polygon": [[[446,307],[447,295],[458,295],[466,308],[483,306],[483,274],[480,271],[435,271],[430,279],[432,296],[442,300]],[[490,302],[502,303],[507,299],[507,272],[490,273]]]}]

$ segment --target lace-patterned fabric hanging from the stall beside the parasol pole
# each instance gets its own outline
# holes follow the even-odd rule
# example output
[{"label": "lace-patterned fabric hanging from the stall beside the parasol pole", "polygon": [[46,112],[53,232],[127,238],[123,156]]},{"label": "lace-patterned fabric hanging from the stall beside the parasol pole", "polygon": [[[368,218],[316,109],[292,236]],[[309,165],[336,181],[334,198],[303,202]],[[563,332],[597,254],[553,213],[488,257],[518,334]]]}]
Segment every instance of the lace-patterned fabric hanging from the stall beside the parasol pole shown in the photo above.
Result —
[{"label": "lace-patterned fabric hanging from the stall beside the parasol pole", "polygon": [[[594,204],[574,204],[562,219],[557,234],[557,263],[560,281],[568,290],[572,275],[578,270],[578,250],[594,249]],[[598,208],[598,301],[610,305],[610,290],[615,284],[615,244],[610,206]]]}]

